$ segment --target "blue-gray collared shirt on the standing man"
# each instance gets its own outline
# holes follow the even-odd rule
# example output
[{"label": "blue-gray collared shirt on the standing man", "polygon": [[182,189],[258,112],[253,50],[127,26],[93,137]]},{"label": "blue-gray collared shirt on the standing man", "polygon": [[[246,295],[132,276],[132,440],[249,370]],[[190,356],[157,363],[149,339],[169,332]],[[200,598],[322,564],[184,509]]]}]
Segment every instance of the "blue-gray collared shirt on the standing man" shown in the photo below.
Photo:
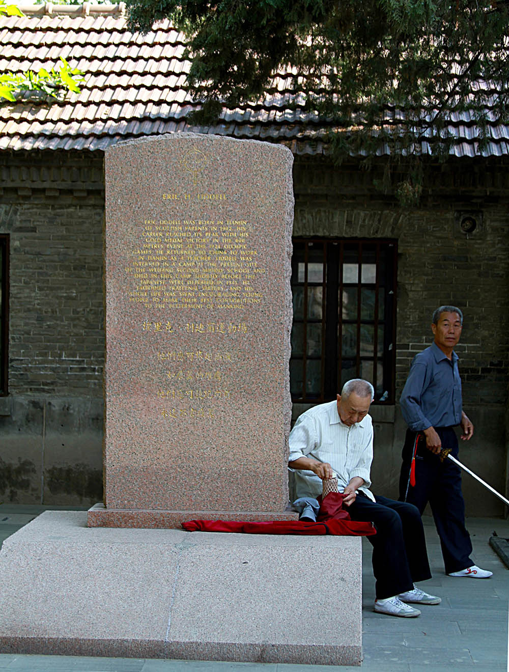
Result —
[{"label": "blue-gray collared shirt on the standing man", "polygon": [[433,343],[414,357],[400,398],[410,429],[451,427],[461,421],[461,380],[458,355],[447,355]]}]

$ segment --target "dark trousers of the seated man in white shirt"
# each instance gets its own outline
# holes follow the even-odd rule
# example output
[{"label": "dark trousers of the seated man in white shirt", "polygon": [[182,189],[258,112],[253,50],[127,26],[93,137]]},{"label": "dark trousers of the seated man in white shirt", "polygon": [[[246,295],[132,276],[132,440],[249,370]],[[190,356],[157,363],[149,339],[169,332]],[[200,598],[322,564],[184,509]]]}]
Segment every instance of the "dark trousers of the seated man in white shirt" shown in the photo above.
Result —
[{"label": "dark trousers of the seated man in white shirt", "polygon": [[412,590],[415,581],[431,578],[422,519],[416,507],[387,497],[376,502],[357,495],[348,507],[352,520],[373,522],[373,574],[378,599]]}]

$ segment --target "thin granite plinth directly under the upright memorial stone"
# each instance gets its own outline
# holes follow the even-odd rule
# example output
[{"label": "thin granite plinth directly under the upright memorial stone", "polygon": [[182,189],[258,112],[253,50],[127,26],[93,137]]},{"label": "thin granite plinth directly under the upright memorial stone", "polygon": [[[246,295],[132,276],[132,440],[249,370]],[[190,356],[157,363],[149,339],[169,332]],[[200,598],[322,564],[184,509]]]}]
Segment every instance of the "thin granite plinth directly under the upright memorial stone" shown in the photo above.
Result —
[{"label": "thin granite plinth directly under the upright memorial stone", "polygon": [[293,510],[279,511],[154,511],[143,509],[106,509],[95,504],[87,512],[89,528],[175,528],[187,520],[270,521],[298,520]]}]

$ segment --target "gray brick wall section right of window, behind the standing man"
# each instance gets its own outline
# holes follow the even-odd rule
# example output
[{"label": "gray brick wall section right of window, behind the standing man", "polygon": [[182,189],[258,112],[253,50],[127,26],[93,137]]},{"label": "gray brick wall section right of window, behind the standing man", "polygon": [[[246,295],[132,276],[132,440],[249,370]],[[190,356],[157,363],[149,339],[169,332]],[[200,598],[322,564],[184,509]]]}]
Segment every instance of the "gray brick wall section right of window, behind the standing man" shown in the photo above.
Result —
[{"label": "gray brick wall section right of window, behind the standing man", "polygon": [[[430,316],[441,304],[464,313],[457,346],[465,405],[507,401],[509,216],[507,197],[483,208],[482,230],[467,238],[449,208],[408,219],[399,243],[397,383],[429,341]],[[406,317],[406,319],[405,319]]]}]

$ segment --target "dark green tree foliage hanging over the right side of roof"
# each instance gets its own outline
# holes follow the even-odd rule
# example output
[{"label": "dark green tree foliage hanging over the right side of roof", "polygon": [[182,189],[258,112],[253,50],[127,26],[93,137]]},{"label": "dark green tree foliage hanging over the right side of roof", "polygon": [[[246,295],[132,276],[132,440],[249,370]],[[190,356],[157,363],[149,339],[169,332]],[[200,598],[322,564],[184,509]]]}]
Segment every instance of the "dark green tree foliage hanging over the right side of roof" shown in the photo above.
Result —
[{"label": "dark green tree foliage hanging over the right side of roof", "polygon": [[381,143],[415,155],[423,138],[445,155],[448,122],[467,110],[482,147],[488,124],[508,118],[508,0],[127,4],[131,30],[169,18],[187,35],[196,123],[260,102],[278,72],[292,81],[293,106],[326,120],[338,161],[369,159]]}]

